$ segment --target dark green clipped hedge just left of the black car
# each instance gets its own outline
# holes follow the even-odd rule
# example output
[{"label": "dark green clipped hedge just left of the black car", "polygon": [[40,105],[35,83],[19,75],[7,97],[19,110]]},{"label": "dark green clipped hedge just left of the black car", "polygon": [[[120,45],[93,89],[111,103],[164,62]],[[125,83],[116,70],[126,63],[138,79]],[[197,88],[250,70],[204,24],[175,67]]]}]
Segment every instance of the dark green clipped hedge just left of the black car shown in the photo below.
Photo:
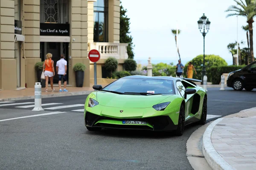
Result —
[{"label": "dark green clipped hedge just left of the black car", "polygon": [[[212,66],[209,68],[211,73],[211,82],[213,85],[218,85],[221,82],[221,75],[223,73],[230,73],[244,68],[246,65],[228,65],[228,66]],[[208,78],[208,77],[207,77]]]}]

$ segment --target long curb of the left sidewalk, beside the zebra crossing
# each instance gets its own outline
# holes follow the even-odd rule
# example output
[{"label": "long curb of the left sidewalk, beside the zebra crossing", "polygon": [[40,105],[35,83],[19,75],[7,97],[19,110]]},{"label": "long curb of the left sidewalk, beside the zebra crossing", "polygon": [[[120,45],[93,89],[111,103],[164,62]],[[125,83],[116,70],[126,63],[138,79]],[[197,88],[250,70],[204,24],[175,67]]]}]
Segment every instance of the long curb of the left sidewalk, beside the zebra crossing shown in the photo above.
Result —
[{"label": "long curb of the left sidewalk, beside the zebra crossing", "polygon": [[[61,94],[45,94],[41,96],[43,98],[51,98],[51,97],[64,97],[64,96],[79,96],[90,94],[93,91],[78,91],[78,92],[69,92],[69,93],[61,93]],[[35,96],[26,96],[26,97],[17,97],[17,98],[9,98],[9,99],[0,99],[0,102],[4,101],[15,101],[15,100],[28,100],[35,99]]]}]

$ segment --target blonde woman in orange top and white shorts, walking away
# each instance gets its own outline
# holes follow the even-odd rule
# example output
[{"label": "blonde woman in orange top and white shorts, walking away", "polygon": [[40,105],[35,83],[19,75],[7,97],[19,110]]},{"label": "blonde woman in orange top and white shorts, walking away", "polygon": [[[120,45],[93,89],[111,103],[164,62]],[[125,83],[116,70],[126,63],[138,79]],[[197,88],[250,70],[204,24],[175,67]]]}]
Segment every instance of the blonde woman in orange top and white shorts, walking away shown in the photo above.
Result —
[{"label": "blonde woman in orange top and white shorts, walking away", "polygon": [[52,91],[55,89],[53,88],[53,76],[55,75],[55,70],[54,70],[54,61],[52,60],[52,54],[48,53],[46,54],[46,60],[44,61],[43,68],[44,69],[44,76],[45,76],[45,91],[47,92],[48,88],[48,79],[50,79]]}]

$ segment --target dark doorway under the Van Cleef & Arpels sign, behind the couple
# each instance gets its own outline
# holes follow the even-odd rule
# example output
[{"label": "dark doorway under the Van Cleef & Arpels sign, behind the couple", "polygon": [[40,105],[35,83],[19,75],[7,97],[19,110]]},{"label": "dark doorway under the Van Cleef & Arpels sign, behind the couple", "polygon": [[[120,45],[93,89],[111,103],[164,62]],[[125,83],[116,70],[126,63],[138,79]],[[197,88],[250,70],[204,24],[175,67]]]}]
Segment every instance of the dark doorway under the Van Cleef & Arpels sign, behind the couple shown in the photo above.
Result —
[{"label": "dark doorway under the Van Cleef & Arpels sign, behind the couple", "polygon": [[[56,73],[56,63],[60,59],[61,54],[64,54],[65,60],[67,61],[68,67],[68,43],[67,42],[40,42],[40,57],[41,61],[46,59],[46,54],[52,54],[52,60],[54,61],[54,69]],[[67,69],[67,80],[69,77]],[[53,77],[53,84],[58,84],[58,75],[55,74]],[[67,81],[68,84],[68,81]]]}]

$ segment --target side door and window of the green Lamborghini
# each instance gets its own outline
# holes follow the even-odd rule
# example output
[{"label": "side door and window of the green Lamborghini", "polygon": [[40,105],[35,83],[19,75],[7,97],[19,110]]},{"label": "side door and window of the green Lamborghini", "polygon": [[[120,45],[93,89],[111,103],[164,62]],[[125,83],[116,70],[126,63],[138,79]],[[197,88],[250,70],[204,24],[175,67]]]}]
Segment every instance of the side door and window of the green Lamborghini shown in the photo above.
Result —
[{"label": "side door and window of the green Lamborghini", "polygon": [[[184,98],[186,86],[183,85],[181,81],[176,82],[177,91],[180,93],[180,95]],[[185,119],[189,117],[189,113],[191,113],[192,108],[192,94],[187,95],[187,98],[185,99]]]}]

